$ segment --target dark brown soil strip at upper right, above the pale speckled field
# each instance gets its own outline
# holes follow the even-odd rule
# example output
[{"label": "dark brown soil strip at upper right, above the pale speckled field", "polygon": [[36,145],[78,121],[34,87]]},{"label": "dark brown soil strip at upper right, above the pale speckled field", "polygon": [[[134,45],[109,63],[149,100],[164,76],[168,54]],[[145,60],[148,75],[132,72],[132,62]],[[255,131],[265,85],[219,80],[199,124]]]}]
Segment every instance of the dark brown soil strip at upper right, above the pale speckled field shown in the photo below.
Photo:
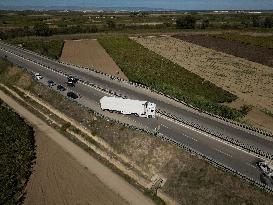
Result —
[{"label": "dark brown soil strip at upper right, above the pale speckled field", "polygon": [[273,67],[273,50],[242,44],[236,41],[228,41],[209,35],[176,35],[182,39],[216,51],[221,51],[233,56],[245,58],[250,61]]}]

